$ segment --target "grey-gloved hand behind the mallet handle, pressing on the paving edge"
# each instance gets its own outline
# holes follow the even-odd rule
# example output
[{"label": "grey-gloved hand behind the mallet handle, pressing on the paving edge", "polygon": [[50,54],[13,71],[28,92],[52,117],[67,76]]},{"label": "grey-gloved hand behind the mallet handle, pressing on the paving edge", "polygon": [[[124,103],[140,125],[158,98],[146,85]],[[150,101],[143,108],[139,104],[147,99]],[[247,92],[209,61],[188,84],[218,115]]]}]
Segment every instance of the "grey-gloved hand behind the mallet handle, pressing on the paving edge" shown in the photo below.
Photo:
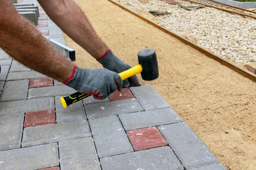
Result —
[{"label": "grey-gloved hand behind the mallet handle, pressing on the paving edge", "polygon": [[[101,63],[104,68],[107,68],[108,70],[114,71],[116,73],[121,73],[131,68],[130,65],[116,57],[116,55],[114,55],[111,50],[108,50],[102,57],[99,57],[97,61]],[[125,79],[123,83],[125,88],[141,86],[136,75]]]}]

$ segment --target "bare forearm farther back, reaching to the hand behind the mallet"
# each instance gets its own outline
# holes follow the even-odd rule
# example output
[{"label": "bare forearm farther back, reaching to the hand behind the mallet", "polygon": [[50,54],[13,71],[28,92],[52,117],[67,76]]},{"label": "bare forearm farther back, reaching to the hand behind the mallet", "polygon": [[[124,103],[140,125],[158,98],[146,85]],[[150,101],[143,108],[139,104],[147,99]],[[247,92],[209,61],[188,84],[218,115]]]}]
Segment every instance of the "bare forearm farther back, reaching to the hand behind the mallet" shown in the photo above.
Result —
[{"label": "bare forearm farther back, reaching to the hand behind the mallet", "polygon": [[94,58],[101,57],[108,50],[108,46],[99,38],[83,11],[73,0],[38,2],[52,21]]}]

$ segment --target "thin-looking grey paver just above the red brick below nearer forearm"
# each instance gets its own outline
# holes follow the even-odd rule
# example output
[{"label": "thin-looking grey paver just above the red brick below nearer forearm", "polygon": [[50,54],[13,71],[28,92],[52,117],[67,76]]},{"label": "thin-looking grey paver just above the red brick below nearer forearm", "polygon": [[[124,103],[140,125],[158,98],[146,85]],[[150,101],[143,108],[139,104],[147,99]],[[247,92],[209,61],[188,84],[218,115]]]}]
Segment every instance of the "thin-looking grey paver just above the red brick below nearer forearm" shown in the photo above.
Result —
[{"label": "thin-looking grey paver just above the red brick below nearer forearm", "polygon": [[12,72],[8,74],[7,81],[20,80],[20,79],[35,79],[45,78],[44,74],[40,74],[36,71],[23,71],[23,72]]}]

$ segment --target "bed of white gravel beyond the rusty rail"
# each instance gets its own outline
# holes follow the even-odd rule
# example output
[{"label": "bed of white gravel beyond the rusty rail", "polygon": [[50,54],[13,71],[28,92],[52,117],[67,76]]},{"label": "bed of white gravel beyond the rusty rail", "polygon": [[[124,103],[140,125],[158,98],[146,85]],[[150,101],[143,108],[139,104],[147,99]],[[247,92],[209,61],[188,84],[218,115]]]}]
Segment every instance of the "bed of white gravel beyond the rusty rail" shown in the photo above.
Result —
[{"label": "bed of white gravel beyond the rusty rail", "polygon": [[[175,31],[213,53],[233,62],[256,62],[256,20],[230,14],[215,8],[192,11],[161,0],[141,3],[139,0],[115,0],[144,11],[168,11],[172,14],[156,16],[159,25]],[[184,6],[198,5],[177,0]]]}]

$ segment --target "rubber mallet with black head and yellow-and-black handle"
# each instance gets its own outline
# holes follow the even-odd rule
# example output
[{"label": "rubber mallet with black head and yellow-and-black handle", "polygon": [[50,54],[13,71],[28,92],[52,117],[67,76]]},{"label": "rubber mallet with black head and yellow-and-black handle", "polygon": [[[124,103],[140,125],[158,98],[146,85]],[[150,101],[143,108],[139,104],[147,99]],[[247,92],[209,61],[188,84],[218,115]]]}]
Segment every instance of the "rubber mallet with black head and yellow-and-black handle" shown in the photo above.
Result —
[{"label": "rubber mallet with black head and yellow-and-black handle", "polygon": [[[135,74],[141,73],[141,77],[144,80],[154,80],[159,76],[157,55],[154,49],[144,49],[138,52],[139,65],[136,65],[122,73],[119,76],[122,80],[134,76]],[[90,96],[90,94],[82,94],[76,92],[66,97],[61,97],[61,104],[63,108],[67,108],[69,105],[78,102],[81,99]]]}]

